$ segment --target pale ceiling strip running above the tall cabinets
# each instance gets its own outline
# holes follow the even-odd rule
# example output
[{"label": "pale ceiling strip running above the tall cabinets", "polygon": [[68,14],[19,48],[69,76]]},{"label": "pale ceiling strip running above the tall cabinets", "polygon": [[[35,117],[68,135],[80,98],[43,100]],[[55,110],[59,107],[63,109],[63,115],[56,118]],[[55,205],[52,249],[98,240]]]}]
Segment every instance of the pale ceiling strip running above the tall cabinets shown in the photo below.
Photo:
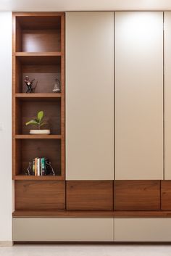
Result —
[{"label": "pale ceiling strip running above the tall cabinets", "polygon": [[14,12],[65,12],[114,10],[170,10],[170,0],[1,0],[0,10]]}]

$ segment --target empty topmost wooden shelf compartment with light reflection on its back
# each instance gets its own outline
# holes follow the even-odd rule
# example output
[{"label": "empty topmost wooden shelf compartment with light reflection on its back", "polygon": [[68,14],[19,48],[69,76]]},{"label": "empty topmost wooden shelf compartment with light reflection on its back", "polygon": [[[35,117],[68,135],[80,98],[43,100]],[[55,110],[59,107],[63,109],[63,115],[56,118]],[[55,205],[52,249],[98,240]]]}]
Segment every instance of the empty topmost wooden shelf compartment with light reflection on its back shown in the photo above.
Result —
[{"label": "empty topmost wooden shelf compartment with light reflection on its back", "polygon": [[61,51],[61,16],[16,16],[15,51]]}]

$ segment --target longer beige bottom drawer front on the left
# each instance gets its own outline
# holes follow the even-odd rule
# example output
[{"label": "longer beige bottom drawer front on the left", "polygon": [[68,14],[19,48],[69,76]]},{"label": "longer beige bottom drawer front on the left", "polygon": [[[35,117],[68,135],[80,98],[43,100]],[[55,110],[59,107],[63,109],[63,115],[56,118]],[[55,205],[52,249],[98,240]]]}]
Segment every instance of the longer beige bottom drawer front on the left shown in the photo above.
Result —
[{"label": "longer beige bottom drawer front on the left", "polygon": [[113,241],[113,219],[14,218],[13,241]]}]

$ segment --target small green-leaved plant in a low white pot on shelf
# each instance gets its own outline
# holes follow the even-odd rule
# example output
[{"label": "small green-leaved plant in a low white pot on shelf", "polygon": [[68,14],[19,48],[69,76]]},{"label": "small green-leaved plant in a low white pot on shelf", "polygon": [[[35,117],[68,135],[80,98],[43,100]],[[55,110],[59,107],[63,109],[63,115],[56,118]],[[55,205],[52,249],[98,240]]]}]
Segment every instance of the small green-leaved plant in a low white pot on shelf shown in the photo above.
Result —
[{"label": "small green-leaved plant in a low white pot on shelf", "polygon": [[50,134],[50,130],[41,130],[41,127],[43,125],[46,125],[47,122],[43,120],[44,112],[41,110],[38,112],[37,118],[34,120],[30,120],[25,125],[35,125],[38,129],[36,130],[30,130],[30,134]]}]

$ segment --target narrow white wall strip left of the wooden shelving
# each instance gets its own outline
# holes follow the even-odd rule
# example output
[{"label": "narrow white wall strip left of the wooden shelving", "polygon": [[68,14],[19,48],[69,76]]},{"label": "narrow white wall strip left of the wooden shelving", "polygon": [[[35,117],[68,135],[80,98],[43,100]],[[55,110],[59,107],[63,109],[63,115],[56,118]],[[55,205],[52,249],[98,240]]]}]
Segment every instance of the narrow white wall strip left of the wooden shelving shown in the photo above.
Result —
[{"label": "narrow white wall strip left of the wooden shelving", "polygon": [[0,241],[12,240],[12,13],[0,12]]}]

